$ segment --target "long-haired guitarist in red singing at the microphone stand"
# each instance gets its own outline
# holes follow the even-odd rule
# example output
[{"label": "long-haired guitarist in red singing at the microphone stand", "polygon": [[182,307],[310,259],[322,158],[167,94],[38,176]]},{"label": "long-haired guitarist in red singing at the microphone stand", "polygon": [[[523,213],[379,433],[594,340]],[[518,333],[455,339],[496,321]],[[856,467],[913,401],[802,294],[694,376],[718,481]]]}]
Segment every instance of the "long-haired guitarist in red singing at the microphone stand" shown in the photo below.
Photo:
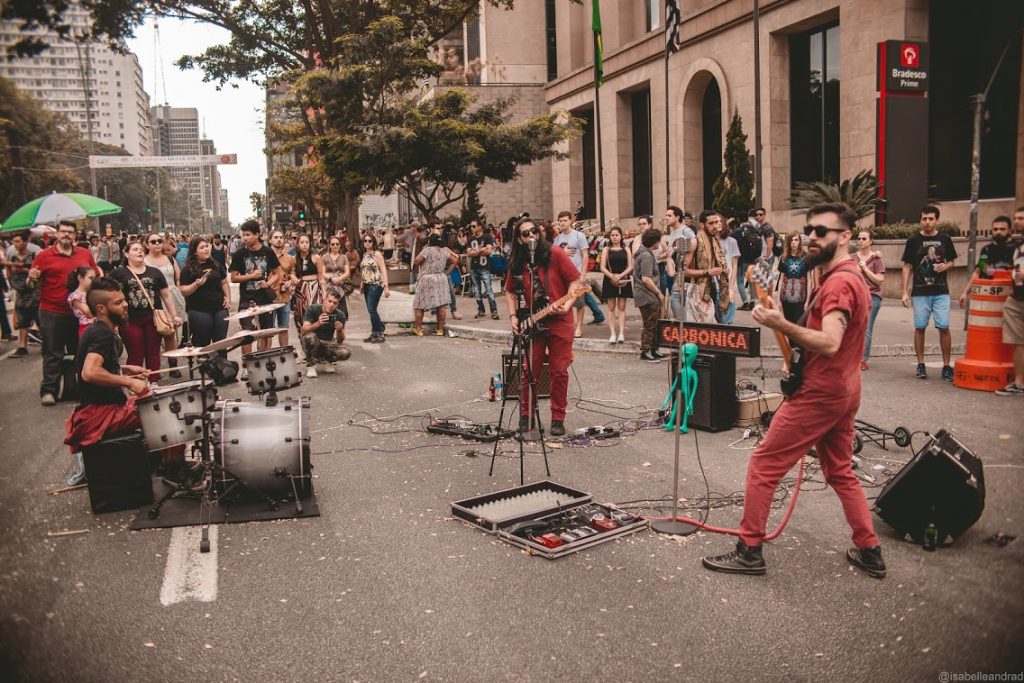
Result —
[{"label": "long-haired guitarist in red singing at the microphone stand", "polygon": [[[580,279],[580,271],[561,249],[552,249],[531,218],[520,218],[512,233],[515,242],[509,255],[508,275],[505,279],[505,301],[509,308],[512,334],[520,332],[520,321],[537,312],[551,301],[564,297],[571,284]],[[534,278],[529,276],[530,251],[534,252]],[[535,288],[536,294],[535,297]],[[521,294],[519,293],[521,292]],[[520,302],[519,297],[522,297]],[[522,303],[522,306],[520,306]],[[530,308],[532,304],[532,308]],[[532,387],[537,392],[537,379],[548,355],[551,379],[551,435],[565,434],[565,409],[568,403],[569,364],[572,362],[572,298],[568,298],[553,314],[544,318],[546,331],[534,336],[530,356]],[[522,386],[519,395],[526,395],[526,373],[519,373]],[[530,401],[520,401],[519,427],[524,433],[536,433],[530,426]],[[535,418],[537,420],[537,418]]]}]

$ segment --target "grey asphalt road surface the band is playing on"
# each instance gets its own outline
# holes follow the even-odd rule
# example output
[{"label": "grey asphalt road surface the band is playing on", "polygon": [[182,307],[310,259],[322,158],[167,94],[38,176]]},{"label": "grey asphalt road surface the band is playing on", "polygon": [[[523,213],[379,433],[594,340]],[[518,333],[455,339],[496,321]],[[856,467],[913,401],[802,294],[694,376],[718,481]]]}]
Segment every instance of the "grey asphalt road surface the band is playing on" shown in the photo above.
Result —
[{"label": "grey asphalt road surface the band is playing on", "polygon": [[[366,336],[361,316],[352,338]],[[711,573],[701,555],[731,538],[640,531],[548,561],[450,515],[453,501],[518,483],[512,446],[487,476],[478,445],[424,433],[431,411],[497,419],[483,399],[501,347],[390,337],[352,344],[339,374],[289,395],[312,399],[313,458],[323,516],[231,524],[215,563],[188,581],[208,601],[164,604],[168,554],[185,531],[128,530],[133,514],[94,516],[62,485],[70,407],[39,405],[39,356],[0,361],[0,676],[76,681],[578,681],[941,680],[942,672],[1021,672],[1024,654],[1022,403],[912,379],[908,358],[865,374],[861,417],[886,427],[955,430],[986,465],[982,519],[949,548],[927,553],[878,521],[889,577],[852,569],[838,500],[810,472],[792,522],[765,555],[769,573]],[[772,365],[777,361],[766,361]],[[579,353],[570,429],[656,408],[664,365]],[[740,375],[755,377],[755,366]],[[938,376],[937,368],[932,373]],[[577,381],[578,380],[578,381]],[[767,380],[774,387],[775,380]],[[241,396],[238,387],[221,396]],[[371,431],[406,429],[399,433]],[[681,494],[742,486],[751,441],[738,431],[682,441]],[[910,452],[866,445],[865,467],[895,470]],[[626,502],[672,490],[673,437],[646,430],[602,447],[550,452],[552,479]],[[888,460],[887,460],[888,459]],[[884,478],[880,472],[868,470]],[[543,478],[536,453],[527,478]],[[869,497],[879,488],[868,487]],[[772,514],[774,526],[781,511]],[[713,510],[734,526],[739,508]],[[48,538],[48,531],[88,529]],[[175,548],[175,544],[178,544]],[[191,548],[195,544],[189,543]],[[209,556],[207,556],[209,558]],[[180,566],[178,567],[181,568]],[[185,567],[187,569],[187,567]],[[187,582],[186,582],[187,583]]]}]

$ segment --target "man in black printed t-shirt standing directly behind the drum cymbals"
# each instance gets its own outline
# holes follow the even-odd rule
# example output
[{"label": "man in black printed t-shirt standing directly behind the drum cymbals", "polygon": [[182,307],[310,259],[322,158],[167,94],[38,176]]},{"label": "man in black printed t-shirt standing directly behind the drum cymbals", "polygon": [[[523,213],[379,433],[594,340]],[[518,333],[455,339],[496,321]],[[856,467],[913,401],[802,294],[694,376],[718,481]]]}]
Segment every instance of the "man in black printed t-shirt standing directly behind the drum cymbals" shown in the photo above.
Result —
[{"label": "man in black printed t-shirt standing directly behind the drum cymbals", "polygon": [[[262,306],[273,302],[278,296],[274,286],[281,278],[281,262],[273,250],[263,244],[259,237],[259,223],[255,220],[247,220],[242,223],[243,246],[231,256],[231,267],[228,272],[231,274],[231,282],[239,285],[239,310],[245,310],[251,306]],[[243,317],[239,321],[243,330],[255,330],[256,316]],[[262,313],[259,316],[259,329],[268,330],[273,327],[274,315]],[[259,340],[259,349],[270,348],[272,339],[264,337]],[[242,354],[252,351],[252,344],[242,345]],[[244,374],[243,374],[244,375]],[[244,380],[245,377],[243,376]]]}]

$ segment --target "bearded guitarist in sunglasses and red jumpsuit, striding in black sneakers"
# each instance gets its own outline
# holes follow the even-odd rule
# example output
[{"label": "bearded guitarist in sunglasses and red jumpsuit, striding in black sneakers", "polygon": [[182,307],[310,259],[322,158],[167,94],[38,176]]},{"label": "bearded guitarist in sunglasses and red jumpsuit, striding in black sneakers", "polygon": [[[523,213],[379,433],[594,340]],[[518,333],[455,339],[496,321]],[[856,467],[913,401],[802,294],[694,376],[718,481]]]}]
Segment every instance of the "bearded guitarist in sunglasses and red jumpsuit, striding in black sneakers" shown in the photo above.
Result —
[{"label": "bearded guitarist in sunglasses and red jumpsuit, striding in black sneakers", "polygon": [[853,529],[854,547],[847,559],[870,577],[886,575],[864,492],[851,463],[854,419],[860,405],[860,358],[870,308],[867,285],[849,254],[856,219],[845,204],[819,204],[808,211],[804,228],[810,237],[807,264],[820,265],[822,275],[800,325],[786,321],[779,310],[761,305],[754,309],[755,321],[803,349],[803,385],[779,408],[767,436],[751,457],[736,549],[702,558],[709,569],[765,573],[761,546],[775,487],[813,445],[821,472],[839,496]]}]

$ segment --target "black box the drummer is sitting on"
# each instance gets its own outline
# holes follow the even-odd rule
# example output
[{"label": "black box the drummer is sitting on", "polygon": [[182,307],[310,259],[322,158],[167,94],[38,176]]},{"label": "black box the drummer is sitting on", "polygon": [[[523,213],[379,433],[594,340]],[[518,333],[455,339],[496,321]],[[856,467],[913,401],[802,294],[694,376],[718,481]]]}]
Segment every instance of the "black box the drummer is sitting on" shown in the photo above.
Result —
[{"label": "black box the drummer is sitting on", "polygon": [[153,503],[150,452],[139,432],[127,432],[82,449],[89,502],[96,514]]}]

